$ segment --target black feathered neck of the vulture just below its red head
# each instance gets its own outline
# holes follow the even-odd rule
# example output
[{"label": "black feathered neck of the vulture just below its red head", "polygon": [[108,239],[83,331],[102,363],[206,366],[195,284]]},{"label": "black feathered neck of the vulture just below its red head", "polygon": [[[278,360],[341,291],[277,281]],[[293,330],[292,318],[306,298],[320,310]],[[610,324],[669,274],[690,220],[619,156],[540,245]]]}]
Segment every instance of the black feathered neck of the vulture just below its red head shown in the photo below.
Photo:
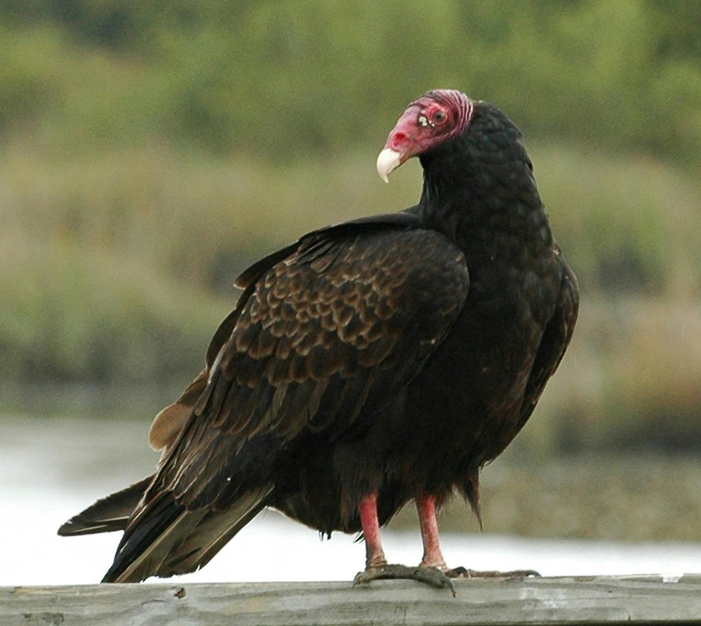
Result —
[{"label": "black feathered neck of the vulture just below its red head", "polygon": [[522,265],[552,254],[547,215],[519,137],[512,124],[488,136],[477,125],[439,154],[421,157],[423,222],[454,240],[470,266],[499,259]]}]

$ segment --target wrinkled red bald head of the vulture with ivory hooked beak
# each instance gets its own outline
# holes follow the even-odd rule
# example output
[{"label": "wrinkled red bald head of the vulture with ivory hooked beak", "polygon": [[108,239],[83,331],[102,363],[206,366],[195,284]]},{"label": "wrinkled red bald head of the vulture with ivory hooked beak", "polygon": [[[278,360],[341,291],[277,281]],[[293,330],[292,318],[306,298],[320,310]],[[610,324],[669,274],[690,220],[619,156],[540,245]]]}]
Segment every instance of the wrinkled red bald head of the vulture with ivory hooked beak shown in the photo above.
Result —
[{"label": "wrinkled red bald head of the vulture with ivory hooked beak", "polygon": [[388,175],[407,159],[462,135],[473,108],[472,100],[454,89],[436,89],[411,102],[377,158],[380,177],[387,182]]}]

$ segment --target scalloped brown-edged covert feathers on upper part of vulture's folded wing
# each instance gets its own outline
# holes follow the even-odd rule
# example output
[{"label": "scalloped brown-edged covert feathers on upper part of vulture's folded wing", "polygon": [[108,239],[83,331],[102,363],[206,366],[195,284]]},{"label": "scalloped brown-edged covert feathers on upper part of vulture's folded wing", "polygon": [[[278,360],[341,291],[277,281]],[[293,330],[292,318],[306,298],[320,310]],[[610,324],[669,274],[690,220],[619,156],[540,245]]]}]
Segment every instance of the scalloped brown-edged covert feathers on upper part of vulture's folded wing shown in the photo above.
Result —
[{"label": "scalloped brown-edged covert feathers on upper part of vulture's folded wing", "polygon": [[[318,404],[306,383],[336,374],[365,379],[392,353],[435,345],[459,313],[467,284],[461,252],[430,231],[301,247],[259,279],[210,372],[210,380],[217,377],[212,400],[197,412],[212,409],[219,428],[243,436],[266,422],[280,428],[298,420],[300,430]],[[223,388],[229,405],[215,401]],[[276,391],[266,397],[270,388]]]}]

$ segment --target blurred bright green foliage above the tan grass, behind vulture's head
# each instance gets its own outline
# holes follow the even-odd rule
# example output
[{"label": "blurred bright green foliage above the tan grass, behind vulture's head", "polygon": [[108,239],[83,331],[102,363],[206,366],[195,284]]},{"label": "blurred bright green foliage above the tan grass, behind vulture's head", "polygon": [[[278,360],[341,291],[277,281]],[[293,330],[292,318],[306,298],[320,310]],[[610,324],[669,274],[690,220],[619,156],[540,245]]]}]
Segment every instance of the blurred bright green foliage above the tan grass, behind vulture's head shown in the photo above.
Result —
[{"label": "blurred bright green foliage above the tan grass, behind vulture's head", "polygon": [[701,151],[688,0],[0,0],[0,22],[1,128],[67,151],[346,151],[438,86],[498,102],[530,136]]}]

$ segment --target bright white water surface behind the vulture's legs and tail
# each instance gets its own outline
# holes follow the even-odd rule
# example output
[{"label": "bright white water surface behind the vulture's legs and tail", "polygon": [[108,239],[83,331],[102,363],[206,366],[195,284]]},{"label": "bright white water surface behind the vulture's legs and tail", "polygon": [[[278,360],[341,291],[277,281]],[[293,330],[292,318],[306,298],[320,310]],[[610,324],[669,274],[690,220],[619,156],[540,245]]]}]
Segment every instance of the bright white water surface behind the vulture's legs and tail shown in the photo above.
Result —
[{"label": "bright white water surface behind the vulture's legs and tail", "polygon": [[[147,426],[134,422],[0,418],[0,585],[96,583],[120,533],[64,538],[62,522],[110,491],[153,470],[144,443]],[[418,524],[417,524],[418,526]],[[421,559],[421,536],[386,531],[391,562]],[[536,569],[544,576],[701,571],[701,545],[598,540],[526,539],[490,533],[442,537],[451,566]],[[203,570],[182,582],[351,580],[365,550],[353,537],[321,541],[306,526],[274,511],[261,513]],[[158,582],[158,579],[151,579]]]}]

